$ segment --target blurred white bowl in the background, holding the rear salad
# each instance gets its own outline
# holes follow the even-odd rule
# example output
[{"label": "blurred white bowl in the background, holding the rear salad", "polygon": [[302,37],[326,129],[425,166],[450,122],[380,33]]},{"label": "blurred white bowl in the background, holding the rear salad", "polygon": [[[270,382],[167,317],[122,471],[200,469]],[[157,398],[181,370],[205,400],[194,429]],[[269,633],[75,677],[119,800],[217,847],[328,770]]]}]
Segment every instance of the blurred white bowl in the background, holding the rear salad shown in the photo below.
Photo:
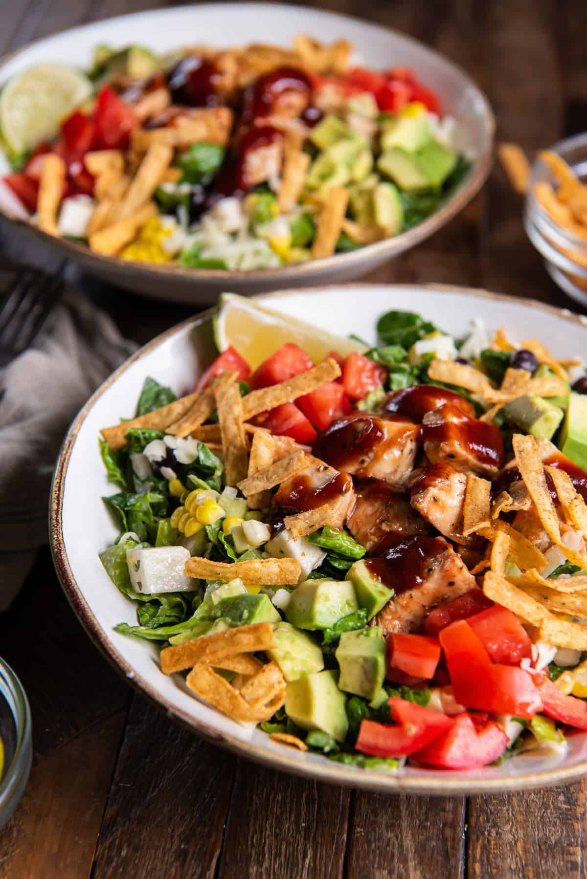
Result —
[{"label": "blurred white bowl in the background, holding the rear salad", "polygon": [[10,221],[14,236],[19,233],[17,246],[22,249],[26,242],[30,259],[35,246],[46,243],[61,258],[70,258],[85,271],[120,287],[159,299],[202,306],[215,301],[216,294],[226,289],[249,294],[292,285],[308,287],[350,280],[437,232],[465,207],[488,176],[495,127],[493,114],[487,99],[462,70],[421,43],[380,25],[284,4],[202,4],[138,12],[37,40],[0,62],[0,84],[18,70],[38,62],[59,60],[87,68],[93,47],[98,43],[114,46],[143,43],[156,51],[189,43],[221,47],[266,42],[290,46],[291,38],[297,33],[310,33],[328,43],[337,37],[346,37],[353,43],[359,62],[376,69],[393,65],[413,67],[422,82],[438,92],[445,112],[457,120],[463,142],[475,159],[468,178],[436,214],[399,236],[351,253],[251,272],[144,265],[101,257],[81,244],[48,236],[22,222]]}]

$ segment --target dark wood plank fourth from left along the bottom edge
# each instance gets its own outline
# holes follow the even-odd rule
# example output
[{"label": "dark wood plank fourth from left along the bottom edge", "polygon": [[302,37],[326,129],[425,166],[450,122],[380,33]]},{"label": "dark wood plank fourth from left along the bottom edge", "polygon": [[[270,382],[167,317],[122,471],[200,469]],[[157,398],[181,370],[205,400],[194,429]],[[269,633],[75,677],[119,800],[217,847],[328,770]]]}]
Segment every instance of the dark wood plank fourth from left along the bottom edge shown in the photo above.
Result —
[{"label": "dark wood plank fourth from left along the bottom edge", "polygon": [[462,876],[464,807],[461,797],[357,792],[349,826],[349,879]]}]

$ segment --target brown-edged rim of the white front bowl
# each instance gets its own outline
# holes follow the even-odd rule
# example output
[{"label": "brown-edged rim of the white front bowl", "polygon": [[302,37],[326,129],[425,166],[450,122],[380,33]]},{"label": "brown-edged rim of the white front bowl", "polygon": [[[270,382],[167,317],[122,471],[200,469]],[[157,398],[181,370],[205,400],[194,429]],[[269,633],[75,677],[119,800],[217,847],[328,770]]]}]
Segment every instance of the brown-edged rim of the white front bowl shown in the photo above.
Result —
[{"label": "brown-edged rim of the white front bowl", "polygon": [[[539,302],[533,299],[521,300],[517,297],[505,294],[495,294],[488,290],[476,287],[463,287],[451,284],[377,284],[372,282],[337,284],[321,287],[304,288],[303,290],[291,289],[282,290],[275,293],[258,294],[253,299],[275,300],[292,294],[319,294],[325,289],[343,289],[356,287],[387,287],[400,288],[402,290],[426,290],[437,291],[439,293],[460,294],[471,297],[481,297],[484,299],[507,301],[523,305],[532,309],[540,309],[547,314],[562,317],[570,323],[578,323],[587,329],[587,317],[577,315],[569,309],[559,309],[545,302]],[[229,734],[221,733],[208,723],[194,720],[193,716],[189,716],[187,712],[180,708],[172,706],[165,700],[155,686],[150,686],[142,676],[136,672],[116,648],[106,641],[104,630],[99,626],[98,621],[92,614],[92,610],[88,602],[84,598],[84,594],[77,585],[76,578],[70,568],[67,549],[62,534],[62,506],[65,477],[69,466],[70,456],[73,446],[80,432],[85,418],[89,414],[94,403],[108,390],[115,381],[118,381],[121,374],[125,373],[132,364],[162,345],[168,338],[182,331],[188,326],[198,325],[209,320],[214,309],[206,309],[201,314],[188,317],[187,320],[176,324],[169,330],[153,338],[142,348],[134,352],[128,360],[125,360],[118,369],[104,381],[99,388],[94,391],[89,400],[79,410],[76,418],[73,420],[65,439],[63,439],[62,448],[59,453],[53,484],[51,486],[51,494],[49,501],[49,540],[51,552],[55,564],[57,576],[61,581],[63,591],[70,602],[79,621],[84,626],[86,633],[90,636],[93,643],[98,647],[106,660],[113,665],[114,669],[123,674],[131,686],[137,693],[145,696],[156,708],[165,712],[176,723],[180,723],[191,732],[195,732],[200,737],[209,741],[212,745],[219,745],[228,751],[236,753],[238,756],[251,759],[255,763],[263,766],[277,769],[289,774],[299,775],[305,778],[311,778],[315,781],[325,781],[330,784],[349,788],[361,788],[371,790],[377,793],[397,794],[409,793],[419,795],[467,795],[479,793],[503,793],[521,789],[541,788],[546,786],[558,785],[565,781],[572,781],[581,775],[587,773],[587,760],[576,763],[574,766],[559,767],[547,769],[538,773],[528,774],[527,776],[505,777],[503,779],[470,779],[466,774],[456,774],[438,771],[437,775],[428,777],[413,776],[396,776],[393,774],[383,773],[359,773],[356,768],[348,768],[343,764],[330,764],[329,761],[324,763],[308,763],[301,764],[294,760],[288,754],[288,749],[283,748],[284,753],[273,753],[267,751],[263,746],[249,741],[243,741]]]}]

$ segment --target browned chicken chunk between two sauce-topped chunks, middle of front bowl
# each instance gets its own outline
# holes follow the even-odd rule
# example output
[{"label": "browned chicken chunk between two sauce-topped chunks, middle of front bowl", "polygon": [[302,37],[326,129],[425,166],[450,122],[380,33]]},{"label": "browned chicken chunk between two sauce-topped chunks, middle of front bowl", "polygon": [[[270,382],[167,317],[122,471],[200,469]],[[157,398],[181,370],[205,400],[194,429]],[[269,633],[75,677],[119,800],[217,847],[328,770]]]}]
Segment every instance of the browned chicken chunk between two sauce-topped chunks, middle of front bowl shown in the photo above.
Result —
[{"label": "browned chicken chunk between two sauce-topped chunks, middle of front bowl", "polygon": [[380,481],[357,490],[347,527],[371,553],[383,552],[390,534],[427,534],[429,530],[406,498]]}]

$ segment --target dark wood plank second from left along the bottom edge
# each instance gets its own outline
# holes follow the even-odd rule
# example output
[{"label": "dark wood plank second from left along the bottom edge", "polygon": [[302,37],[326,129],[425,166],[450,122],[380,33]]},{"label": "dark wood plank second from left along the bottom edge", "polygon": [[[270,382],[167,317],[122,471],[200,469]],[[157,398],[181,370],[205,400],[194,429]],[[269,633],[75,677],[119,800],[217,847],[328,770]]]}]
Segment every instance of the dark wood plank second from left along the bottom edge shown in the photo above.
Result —
[{"label": "dark wood plank second from left along the bottom edge", "polygon": [[231,754],[136,696],[100,831],[96,879],[212,879],[234,765]]}]

